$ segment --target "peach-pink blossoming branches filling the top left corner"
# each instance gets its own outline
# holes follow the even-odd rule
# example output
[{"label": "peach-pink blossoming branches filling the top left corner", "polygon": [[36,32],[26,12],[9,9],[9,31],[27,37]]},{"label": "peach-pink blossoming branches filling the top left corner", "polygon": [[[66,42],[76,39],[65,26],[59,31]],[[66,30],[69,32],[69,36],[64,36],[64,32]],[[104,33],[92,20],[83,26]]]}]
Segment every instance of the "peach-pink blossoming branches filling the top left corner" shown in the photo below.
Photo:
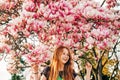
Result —
[{"label": "peach-pink blossoming branches filling the top left corner", "polygon": [[0,25],[8,23],[11,18],[19,16],[23,0],[0,0]]}]

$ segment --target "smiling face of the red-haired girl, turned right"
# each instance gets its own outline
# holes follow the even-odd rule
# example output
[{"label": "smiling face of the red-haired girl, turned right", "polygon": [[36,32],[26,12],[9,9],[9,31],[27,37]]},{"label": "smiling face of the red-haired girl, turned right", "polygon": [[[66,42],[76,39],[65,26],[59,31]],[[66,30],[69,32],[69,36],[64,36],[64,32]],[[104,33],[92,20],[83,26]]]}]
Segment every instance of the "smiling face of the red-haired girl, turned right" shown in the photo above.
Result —
[{"label": "smiling face of the red-haired girl, turned right", "polygon": [[68,60],[69,60],[69,52],[66,48],[64,48],[60,57],[60,61],[62,64],[65,64],[68,62]]}]

